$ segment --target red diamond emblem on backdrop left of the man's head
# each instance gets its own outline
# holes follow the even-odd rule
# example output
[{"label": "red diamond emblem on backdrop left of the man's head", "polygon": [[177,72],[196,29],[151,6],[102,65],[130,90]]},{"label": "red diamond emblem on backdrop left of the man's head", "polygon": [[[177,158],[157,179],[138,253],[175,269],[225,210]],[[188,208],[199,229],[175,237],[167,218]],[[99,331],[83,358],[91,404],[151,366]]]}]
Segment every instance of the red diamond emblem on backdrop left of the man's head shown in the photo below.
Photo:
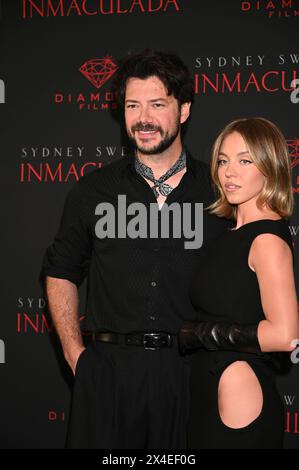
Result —
[{"label": "red diamond emblem on backdrop left of the man's head", "polygon": [[112,77],[116,69],[117,65],[111,57],[88,60],[79,68],[84,77],[96,88],[103,86]]}]

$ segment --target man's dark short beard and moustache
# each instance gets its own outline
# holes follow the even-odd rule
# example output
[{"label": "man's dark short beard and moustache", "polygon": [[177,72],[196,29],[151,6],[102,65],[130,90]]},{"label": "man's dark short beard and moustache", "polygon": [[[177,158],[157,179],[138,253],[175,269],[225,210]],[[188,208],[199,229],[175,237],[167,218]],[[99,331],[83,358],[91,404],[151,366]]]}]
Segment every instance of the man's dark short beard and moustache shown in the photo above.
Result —
[{"label": "man's dark short beard and moustache", "polygon": [[[163,129],[159,126],[153,126],[152,124],[142,124],[142,123],[137,123],[132,128],[130,129],[130,132],[128,132],[128,137],[130,142],[136,147],[136,149],[140,152],[143,153],[144,155],[156,155],[159,153],[164,152],[164,150],[168,149],[171,144],[175,141],[177,138],[179,132],[180,132],[180,120],[179,117],[176,122],[176,128],[175,130],[170,134],[169,132],[164,133]],[[137,144],[137,141],[134,137],[134,132],[136,131],[158,131],[160,132],[162,136],[161,142],[159,144],[155,145],[154,147],[151,148],[144,148],[141,147],[140,145]]]}]

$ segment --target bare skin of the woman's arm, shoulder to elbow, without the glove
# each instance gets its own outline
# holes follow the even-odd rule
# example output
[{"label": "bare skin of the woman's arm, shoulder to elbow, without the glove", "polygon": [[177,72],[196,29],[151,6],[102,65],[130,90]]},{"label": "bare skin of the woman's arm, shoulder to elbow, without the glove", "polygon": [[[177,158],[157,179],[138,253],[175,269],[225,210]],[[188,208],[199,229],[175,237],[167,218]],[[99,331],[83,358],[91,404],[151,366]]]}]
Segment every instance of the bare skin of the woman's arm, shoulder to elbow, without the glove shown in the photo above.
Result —
[{"label": "bare skin of the woman's arm, shoulder to elbow, without the glove", "polygon": [[248,264],[255,271],[266,319],[258,325],[261,350],[292,351],[299,337],[299,316],[292,253],[280,237],[264,233],[251,245]]}]

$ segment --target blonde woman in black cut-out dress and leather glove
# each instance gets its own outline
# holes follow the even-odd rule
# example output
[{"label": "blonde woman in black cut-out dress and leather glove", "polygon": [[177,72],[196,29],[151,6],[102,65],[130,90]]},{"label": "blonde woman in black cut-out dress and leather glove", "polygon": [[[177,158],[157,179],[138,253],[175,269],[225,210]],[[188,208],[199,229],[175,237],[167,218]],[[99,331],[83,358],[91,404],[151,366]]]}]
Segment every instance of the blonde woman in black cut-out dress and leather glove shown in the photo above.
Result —
[{"label": "blonde woman in black cut-out dress and leather glove", "polygon": [[233,218],[203,251],[191,296],[198,322],[184,323],[181,350],[198,349],[191,371],[190,448],[281,448],[284,410],[271,352],[298,338],[287,145],[262,118],[239,119],[218,136],[210,206]]}]

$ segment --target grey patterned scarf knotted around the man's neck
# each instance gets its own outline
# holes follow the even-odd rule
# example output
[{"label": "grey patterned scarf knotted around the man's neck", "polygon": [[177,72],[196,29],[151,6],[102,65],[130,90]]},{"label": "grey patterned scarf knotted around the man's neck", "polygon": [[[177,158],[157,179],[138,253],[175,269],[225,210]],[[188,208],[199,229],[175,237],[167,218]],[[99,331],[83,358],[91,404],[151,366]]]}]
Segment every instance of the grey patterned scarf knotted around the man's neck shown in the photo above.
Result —
[{"label": "grey patterned scarf knotted around the man's neck", "polygon": [[[144,163],[141,163],[140,160],[138,160],[137,155],[135,158],[135,170],[139,175],[143,176],[144,178],[152,181],[154,183],[154,186],[152,186],[152,190],[154,191],[154,194],[156,198],[160,196],[168,196],[168,194],[171,193],[173,190],[173,187],[170,186],[169,184],[164,183],[164,181],[168,180],[172,175],[175,175],[179,171],[181,171],[183,168],[186,167],[186,152],[185,150],[182,151],[182,154],[180,158],[172,165],[169,170],[164,173],[159,179],[156,179],[154,177],[153,171],[149,166],[144,165]],[[159,190],[159,191],[158,191]],[[160,194],[159,194],[160,193]]]}]

